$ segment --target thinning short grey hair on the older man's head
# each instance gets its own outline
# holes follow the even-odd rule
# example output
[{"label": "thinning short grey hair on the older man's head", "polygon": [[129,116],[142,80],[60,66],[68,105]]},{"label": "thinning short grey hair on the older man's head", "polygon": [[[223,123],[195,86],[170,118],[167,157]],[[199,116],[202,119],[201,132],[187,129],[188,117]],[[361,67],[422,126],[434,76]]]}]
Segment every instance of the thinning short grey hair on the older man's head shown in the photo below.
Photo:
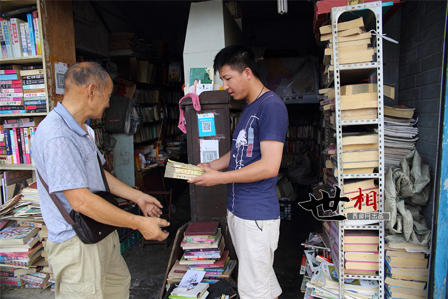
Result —
[{"label": "thinning short grey hair on the older man's head", "polygon": [[71,86],[84,87],[95,84],[104,91],[109,79],[108,73],[96,62],[80,62],[72,65],[65,73],[64,92],[70,92]]}]

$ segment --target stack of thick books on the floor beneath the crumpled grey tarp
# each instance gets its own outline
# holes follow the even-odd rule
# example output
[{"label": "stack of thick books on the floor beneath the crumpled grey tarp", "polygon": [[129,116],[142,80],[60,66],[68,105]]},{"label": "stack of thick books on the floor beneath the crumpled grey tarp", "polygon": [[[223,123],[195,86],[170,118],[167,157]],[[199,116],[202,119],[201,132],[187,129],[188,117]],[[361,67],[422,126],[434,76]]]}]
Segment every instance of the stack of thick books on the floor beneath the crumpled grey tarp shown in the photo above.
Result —
[{"label": "stack of thick books on the floor beneath the crumpled grey tarp", "polygon": [[386,241],[384,249],[386,298],[427,298],[429,247]]}]

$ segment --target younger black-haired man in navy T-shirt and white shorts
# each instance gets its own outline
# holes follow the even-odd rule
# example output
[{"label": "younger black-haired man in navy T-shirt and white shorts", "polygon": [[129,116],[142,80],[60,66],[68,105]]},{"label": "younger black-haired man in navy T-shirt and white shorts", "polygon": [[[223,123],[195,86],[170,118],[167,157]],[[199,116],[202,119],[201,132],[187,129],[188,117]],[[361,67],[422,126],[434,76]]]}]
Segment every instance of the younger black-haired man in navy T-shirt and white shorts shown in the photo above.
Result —
[{"label": "younger black-haired man in navy T-shirt and white shorts", "polygon": [[206,173],[189,182],[227,184],[227,224],[238,257],[240,298],[277,298],[282,290],[272,268],[280,227],[276,182],[288,112],[283,101],[259,80],[249,48],[225,47],[216,55],[214,68],[224,90],[247,105],[233,133],[231,150],[199,164]]}]

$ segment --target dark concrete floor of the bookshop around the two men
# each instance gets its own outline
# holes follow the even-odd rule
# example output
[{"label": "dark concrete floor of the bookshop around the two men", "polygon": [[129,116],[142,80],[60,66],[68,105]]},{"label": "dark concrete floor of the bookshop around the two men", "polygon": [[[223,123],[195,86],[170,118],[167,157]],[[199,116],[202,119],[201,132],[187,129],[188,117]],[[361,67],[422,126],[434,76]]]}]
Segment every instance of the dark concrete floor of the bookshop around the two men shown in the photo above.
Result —
[{"label": "dark concrete floor of the bookshop around the two men", "polygon": [[[303,198],[308,198],[304,193]],[[299,198],[301,198],[299,196]],[[177,211],[171,216],[170,237],[174,238],[177,229],[191,219],[188,188],[175,202]],[[299,274],[304,242],[310,231],[320,229],[322,223],[314,219],[308,211],[292,205],[293,220],[282,220],[280,240],[275,252],[274,270],[283,293],[280,299],[303,299],[300,292],[302,275]],[[171,239],[171,243],[172,243]],[[123,253],[129,272],[131,299],[158,299],[160,297],[166,267],[171,253],[171,244],[165,250],[164,245],[148,244],[141,250],[140,241]],[[2,299],[53,299],[54,293],[49,289],[13,289],[1,288]]]}]

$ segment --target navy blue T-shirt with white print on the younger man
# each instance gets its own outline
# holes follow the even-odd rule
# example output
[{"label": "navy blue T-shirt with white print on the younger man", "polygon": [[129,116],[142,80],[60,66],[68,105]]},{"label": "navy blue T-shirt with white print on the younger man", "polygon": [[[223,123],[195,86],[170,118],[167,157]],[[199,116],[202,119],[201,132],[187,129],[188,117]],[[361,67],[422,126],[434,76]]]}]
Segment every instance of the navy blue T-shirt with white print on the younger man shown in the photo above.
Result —
[{"label": "navy blue T-shirt with white print on the younger man", "polygon": [[[246,105],[233,132],[228,170],[247,166],[261,158],[260,142],[285,142],[288,112],[282,99],[268,91]],[[269,220],[280,217],[277,176],[251,183],[227,184],[227,209],[239,218]]]}]

